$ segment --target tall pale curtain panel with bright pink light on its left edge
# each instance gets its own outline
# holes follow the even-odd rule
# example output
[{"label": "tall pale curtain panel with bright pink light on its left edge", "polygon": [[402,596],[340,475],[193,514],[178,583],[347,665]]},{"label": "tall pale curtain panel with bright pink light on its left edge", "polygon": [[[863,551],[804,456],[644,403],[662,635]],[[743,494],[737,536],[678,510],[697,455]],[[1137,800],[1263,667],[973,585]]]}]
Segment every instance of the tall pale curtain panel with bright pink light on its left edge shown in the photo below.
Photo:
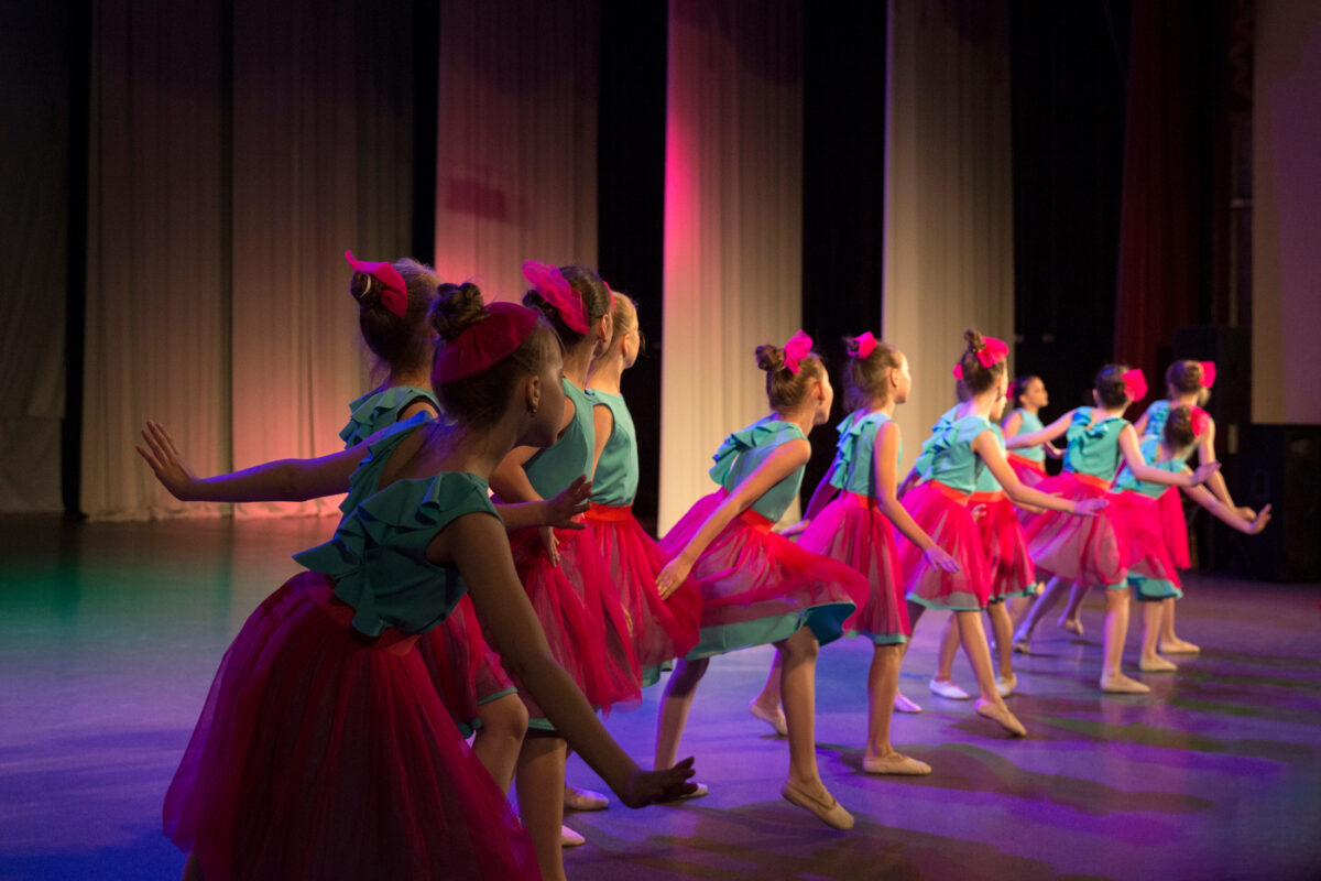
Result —
[{"label": "tall pale curtain panel with bright pink light on its left edge", "polygon": [[768,412],[753,351],[802,321],[802,18],[670,3],[662,534],[715,489],[721,439]]}]

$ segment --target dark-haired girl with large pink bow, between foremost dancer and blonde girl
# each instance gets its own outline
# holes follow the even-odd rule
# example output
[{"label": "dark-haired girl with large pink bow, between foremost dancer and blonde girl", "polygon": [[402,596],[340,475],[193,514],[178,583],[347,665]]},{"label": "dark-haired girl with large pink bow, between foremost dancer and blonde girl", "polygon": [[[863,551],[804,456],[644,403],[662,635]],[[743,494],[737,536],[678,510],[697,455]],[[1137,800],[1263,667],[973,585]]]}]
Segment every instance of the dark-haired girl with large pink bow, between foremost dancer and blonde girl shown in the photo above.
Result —
[{"label": "dark-haired girl with large pink bow, between foremost dancer and blonde girl", "polygon": [[[491,489],[505,502],[532,502],[563,493],[592,477],[596,450],[588,366],[610,339],[612,293],[600,276],[581,267],[523,264],[531,288],[523,302],[539,310],[564,343],[567,404],[555,444],[514,449],[491,474]],[[594,707],[641,703],[642,672],[633,650],[629,619],[618,588],[587,531],[522,530],[510,535],[519,579],[547,631],[556,659],[573,675]],[[527,695],[523,695],[524,701]],[[561,844],[576,844],[563,828],[569,807],[605,807],[593,793],[577,794],[564,783],[567,744],[535,703],[528,703],[528,736],[519,753],[518,803],[532,836],[542,872],[563,876]],[[576,804],[575,804],[576,802]],[[568,837],[568,840],[564,840]]]}]

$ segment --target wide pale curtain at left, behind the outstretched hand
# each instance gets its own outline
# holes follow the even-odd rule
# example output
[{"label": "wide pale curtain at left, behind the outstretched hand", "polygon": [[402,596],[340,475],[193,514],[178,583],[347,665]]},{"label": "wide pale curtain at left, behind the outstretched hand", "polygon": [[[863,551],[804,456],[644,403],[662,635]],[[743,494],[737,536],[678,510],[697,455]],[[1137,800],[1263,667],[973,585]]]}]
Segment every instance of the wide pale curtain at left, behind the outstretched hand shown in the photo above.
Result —
[{"label": "wide pale curtain at left, behind the outstretched hand", "polygon": [[342,446],[369,387],[342,254],[408,242],[410,24],[404,3],[96,4],[90,516],[225,510],[155,485],[132,449],[148,416],[201,473]]}]

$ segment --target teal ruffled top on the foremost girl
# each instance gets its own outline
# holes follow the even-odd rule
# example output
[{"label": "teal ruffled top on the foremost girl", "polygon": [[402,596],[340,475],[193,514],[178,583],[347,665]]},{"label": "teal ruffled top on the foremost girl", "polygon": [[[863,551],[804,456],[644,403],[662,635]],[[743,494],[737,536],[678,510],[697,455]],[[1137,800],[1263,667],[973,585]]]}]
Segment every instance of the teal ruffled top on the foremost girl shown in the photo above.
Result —
[{"label": "teal ruffled top on the foremost girl", "polygon": [[[432,536],[460,516],[474,512],[499,516],[486,481],[476,474],[448,472],[425,479],[396,481],[353,509],[329,542],[296,553],[293,559],[333,579],[336,596],[354,608],[354,629],[376,637],[384,622],[378,614],[373,579],[390,581],[391,572],[371,561],[380,564],[379,552],[387,548],[412,548],[423,555]],[[444,571],[443,567],[437,569]]]}]

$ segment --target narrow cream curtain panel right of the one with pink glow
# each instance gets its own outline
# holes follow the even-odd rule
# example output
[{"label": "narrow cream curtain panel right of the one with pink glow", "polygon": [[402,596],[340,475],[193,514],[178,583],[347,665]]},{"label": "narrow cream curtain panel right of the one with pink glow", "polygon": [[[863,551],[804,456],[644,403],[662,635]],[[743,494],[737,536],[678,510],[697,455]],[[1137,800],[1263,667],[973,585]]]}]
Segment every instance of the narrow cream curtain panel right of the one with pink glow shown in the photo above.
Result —
[{"label": "narrow cream curtain panel right of the one with pink glow", "polygon": [[955,400],[964,328],[1013,342],[1008,3],[890,0],[888,41],[882,328],[913,371],[906,470]]}]

